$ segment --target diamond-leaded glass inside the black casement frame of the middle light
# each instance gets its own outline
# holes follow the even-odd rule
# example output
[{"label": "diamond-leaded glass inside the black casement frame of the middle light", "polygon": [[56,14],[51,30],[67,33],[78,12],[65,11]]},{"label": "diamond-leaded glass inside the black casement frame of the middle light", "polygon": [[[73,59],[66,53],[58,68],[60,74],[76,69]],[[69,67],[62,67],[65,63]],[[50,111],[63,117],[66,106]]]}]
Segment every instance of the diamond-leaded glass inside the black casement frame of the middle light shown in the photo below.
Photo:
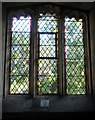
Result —
[{"label": "diamond-leaded glass inside the black casement frame of the middle light", "polygon": [[40,57],[56,57],[56,34],[40,34],[39,35],[39,56]]}]

